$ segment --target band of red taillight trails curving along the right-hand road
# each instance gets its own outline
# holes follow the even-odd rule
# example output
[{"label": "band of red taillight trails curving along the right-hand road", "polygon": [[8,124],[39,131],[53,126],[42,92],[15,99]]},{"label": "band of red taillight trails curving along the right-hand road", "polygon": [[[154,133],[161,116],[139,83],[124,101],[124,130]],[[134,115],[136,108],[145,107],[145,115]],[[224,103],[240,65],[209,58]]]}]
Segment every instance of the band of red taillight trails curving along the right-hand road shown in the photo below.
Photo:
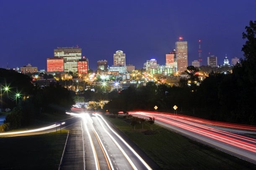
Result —
[{"label": "band of red taillight trails curving along the right-hand road", "polygon": [[[129,114],[144,118],[154,117],[156,121],[163,122],[172,127],[178,127],[180,129],[186,130],[187,132],[192,132],[185,132],[185,134],[191,137],[194,137],[193,134],[199,134],[204,137],[207,137],[208,139],[215,140],[220,143],[225,143],[227,144],[228,147],[224,148],[220,145],[213,144],[209,140],[206,141],[201,137],[197,137],[197,139],[199,140],[203,140],[204,142],[221,147],[222,149],[229,150],[230,152],[234,152],[238,155],[242,155],[243,157],[248,157],[250,161],[253,161],[254,163],[256,162],[256,139],[235,133],[246,132],[256,134],[255,126],[209,121],[205,119],[197,119],[195,117],[160,112],[129,112]],[[223,129],[223,127],[225,129]],[[229,146],[233,146],[234,149],[230,149]],[[235,147],[240,148],[243,151],[246,151],[247,154],[242,154],[241,152],[238,153]]]}]

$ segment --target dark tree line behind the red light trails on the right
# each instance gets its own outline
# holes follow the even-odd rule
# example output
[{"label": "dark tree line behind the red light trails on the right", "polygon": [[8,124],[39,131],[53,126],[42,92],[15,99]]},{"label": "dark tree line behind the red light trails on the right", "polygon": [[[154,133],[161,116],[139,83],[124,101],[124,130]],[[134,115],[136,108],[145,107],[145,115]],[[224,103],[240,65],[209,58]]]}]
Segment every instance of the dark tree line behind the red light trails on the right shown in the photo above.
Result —
[{"label": "dark tree line behind the red light trails on the right", "polygon": [[109,103],[104,110],[127,112],[129,110],[174,112],[210,120],[240,124],[256,124],[256,21],[250,21],[246,43],[242,47],[244,58],[234,66],[232,73],[211,72],[200,85],[196,74],[198,68],[189,66],[187,79],[180,79],[179,86],[148,82],[146,86],[134,87],[109,93]]}]

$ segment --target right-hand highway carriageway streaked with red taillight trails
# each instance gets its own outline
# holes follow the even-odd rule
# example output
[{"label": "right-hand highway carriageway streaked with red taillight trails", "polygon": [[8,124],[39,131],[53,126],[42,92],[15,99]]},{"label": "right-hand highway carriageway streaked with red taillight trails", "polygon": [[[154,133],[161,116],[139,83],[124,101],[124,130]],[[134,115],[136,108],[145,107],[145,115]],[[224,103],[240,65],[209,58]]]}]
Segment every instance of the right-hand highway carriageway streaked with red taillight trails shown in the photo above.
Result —
[{"label": "right-hand highway carriageway streaked with red taillight trails", "polygon": [[[256,127],[160,112],[129,112],[155,124],[256,164]],[[254,135],[254,137],[251,137]]]}]

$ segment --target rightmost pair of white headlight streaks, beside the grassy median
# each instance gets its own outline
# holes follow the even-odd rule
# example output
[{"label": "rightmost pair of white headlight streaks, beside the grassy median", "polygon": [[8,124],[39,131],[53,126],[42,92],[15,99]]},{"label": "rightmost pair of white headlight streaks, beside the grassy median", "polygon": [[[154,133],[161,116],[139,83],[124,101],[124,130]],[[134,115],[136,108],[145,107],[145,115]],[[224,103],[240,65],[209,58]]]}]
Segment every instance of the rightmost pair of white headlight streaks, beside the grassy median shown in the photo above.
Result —
[{"label": "rightmost pair of white headlight streaks, beside the grassy median", "polygon": [[[145,160],[142,159],[142,157],[140,157],[140,155],[137,154],[137,152],[135,152],[132,147],[125,142],[125,140],[119,136],[119,134],[117,134],[110,126],[109,124],[106,122],[105,119],[103,119],[103,117],[100,114],[96,114],[97,118],[100,117],[103,122],[106,124],[107,127],[109,127],[109,129],[129,148],[129,150],[131,150],[133,152],[133,154],[142,162],[142,164],[148,169],[148,170],[152,170],[152,168],[145,162]],[[101,121],[99,121],[101,123]],[[103,127],[103,125],[101,124],[101,126]],[[111,139],[116,143],[116,145],[119,147],[119,149],[121,150],[121,152],[123,152],[124,156],[127,158],[127,160],[131,163],[132,167],[134,169],[137,169],[137,167],[135,167],[135,165],[132,163],[132,161],[130,160],[130,158],[127,156],[127,154],[124,152],[124,150],[122,149],[122,147],[116,142],[116,140],[114,140],[114,137],[111,136],[111,134],[109,134],[109,132],[103,127],[103,129],[105,130],[105,132],[109,135],[109,137],[111,137]]]}]

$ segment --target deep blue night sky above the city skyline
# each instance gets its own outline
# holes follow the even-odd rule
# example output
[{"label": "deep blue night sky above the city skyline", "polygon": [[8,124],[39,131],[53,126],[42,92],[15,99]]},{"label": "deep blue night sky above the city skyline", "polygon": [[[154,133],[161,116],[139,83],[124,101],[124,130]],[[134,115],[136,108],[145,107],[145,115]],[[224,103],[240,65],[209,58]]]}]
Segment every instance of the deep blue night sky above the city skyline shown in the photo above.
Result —
[{"label": "deep blue night sky above the city skyline", "polygon": [[209,52],[223,64],[225,55],[243,57],[242,32],[256,20],[255,0],[0,0],[0,67],[31,63],[47,69],[57,47],[78,45],[89,68],[106,59],[113,65],[117,50],[126,63],[141,69],[165,54],[179,36],[188,41],[188,63],[203,64]]}]

